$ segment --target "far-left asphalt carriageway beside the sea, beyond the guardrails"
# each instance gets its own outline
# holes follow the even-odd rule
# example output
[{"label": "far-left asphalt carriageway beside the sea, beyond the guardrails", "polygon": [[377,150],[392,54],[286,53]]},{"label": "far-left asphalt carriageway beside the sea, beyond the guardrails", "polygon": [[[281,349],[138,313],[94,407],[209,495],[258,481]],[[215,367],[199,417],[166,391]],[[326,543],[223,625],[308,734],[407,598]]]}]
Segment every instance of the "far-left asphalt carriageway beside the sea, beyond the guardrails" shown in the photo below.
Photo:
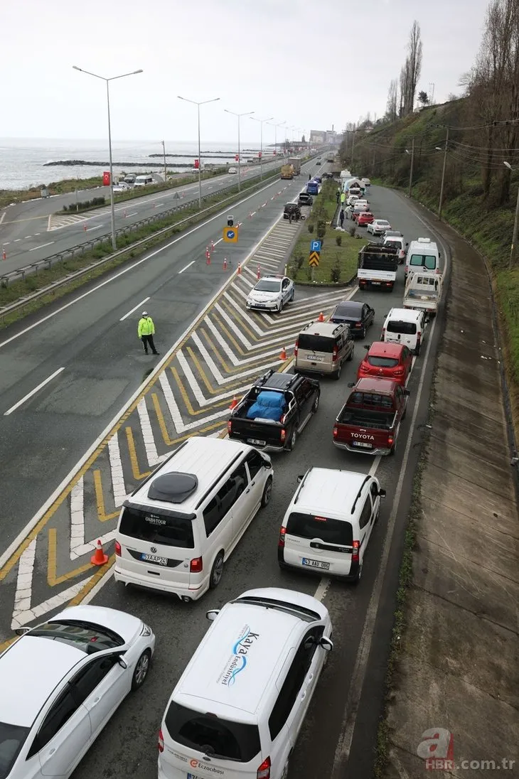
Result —
[{"label": "far-left asphalt carriageway beside the sea, beyond the guardrails", "polygon": [[[268,175],[279,160],[263,165]],[[242,167],[242,181],[260,176],[258,165]],[[235,174],[224,174],[202,182],[203,196],[214,195],[220,189],[238,183]],[[17,270],[30,263],[63,252],[71,246],[81,245],[97,235],[111,231],[110,192],[105,187],[78,193],[79,200],[104,195],[107,206],[79,214],[62,212],[64,205],[76,202],[74,192],[49,199],[31,200],[8,206],[0,213],[0,249],[5,249],[6,259],[0,260],[0,275]],[[157,216],[179,203],[198,199],[198,182],[181,188],[156,192],[118,203],[115,197],[115,228],[128,227],[139,220]],[[5,216],[3,215],[5,213]]]}]

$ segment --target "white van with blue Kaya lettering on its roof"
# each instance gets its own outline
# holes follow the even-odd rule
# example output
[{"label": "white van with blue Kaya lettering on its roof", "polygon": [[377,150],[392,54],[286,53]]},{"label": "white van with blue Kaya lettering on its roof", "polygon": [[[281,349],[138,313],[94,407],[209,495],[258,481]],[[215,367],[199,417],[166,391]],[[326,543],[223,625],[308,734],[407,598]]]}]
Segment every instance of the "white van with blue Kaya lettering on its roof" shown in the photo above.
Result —
[{"label": "white van with blue Kaya lettering on its roof", "polygon": [[249,590],[213,621],[168,701],[158,779],[286,779],[332,626],[294,590]]}]

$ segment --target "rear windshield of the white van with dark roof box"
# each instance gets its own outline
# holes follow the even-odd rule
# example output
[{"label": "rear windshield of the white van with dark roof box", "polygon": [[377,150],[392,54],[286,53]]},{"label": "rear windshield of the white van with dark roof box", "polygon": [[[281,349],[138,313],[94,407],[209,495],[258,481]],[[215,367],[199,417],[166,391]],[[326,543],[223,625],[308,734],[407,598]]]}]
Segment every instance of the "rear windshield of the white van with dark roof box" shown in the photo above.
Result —
[{"label": "rear windshield of the white van with dark roof box", "polygon": [[195,547],[191,518],[172,512],[152,514],[126,507],[122,513],[119,533],[139,541],[149,541],[150,544],[182,549]]}]

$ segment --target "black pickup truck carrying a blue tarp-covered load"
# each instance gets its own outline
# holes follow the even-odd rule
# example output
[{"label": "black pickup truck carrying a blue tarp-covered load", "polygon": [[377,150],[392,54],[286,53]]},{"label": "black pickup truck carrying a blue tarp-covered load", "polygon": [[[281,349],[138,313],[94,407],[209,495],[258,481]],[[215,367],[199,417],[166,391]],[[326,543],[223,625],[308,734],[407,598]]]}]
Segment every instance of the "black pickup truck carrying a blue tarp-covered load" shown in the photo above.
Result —
[{"label": "black pickup truck carrying a blue tarp-covered load", "polygon": [[229,438],[257,449],[293,449],[310,414],[319,408],[319,399],[316,379],[267,371],[231,411]]}]

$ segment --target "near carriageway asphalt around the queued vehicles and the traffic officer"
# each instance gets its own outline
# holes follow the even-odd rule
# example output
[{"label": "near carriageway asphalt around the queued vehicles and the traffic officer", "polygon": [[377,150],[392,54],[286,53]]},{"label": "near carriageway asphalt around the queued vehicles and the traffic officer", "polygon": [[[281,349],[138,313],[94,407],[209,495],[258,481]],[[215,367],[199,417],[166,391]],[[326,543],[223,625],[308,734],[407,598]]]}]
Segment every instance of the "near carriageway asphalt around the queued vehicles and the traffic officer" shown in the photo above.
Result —
[{"label": "near carriageway asphalt around the queued vehicles and the traffic officer", "polygon": [[[285,202],[290,199],[288,192],[295,194],[301,186],[301,179],[291,184],[280,200]],[[370,199],[376,216],[389,219],[395,229],[404,232],[407,240],[418,238],[418,235],[434,237],[433,232],[401,196],[372,188]],[[266,227],[272,224],[280,206],[279,201],[275,200],[263,202],[267,205],[263,207],[260,216],[263,227],[260,228],[260,220],[256,223],[259,232],[265,232]],[[256,197],[255,203],[263,205],[261,196]],[[249,218],[248,203],[236,207],[234,211],[239,220]],[[250,220],[251,231],[255,219],[256,216]],[[3,385],[0,384],[0,397],[5,410],[9,410],[10,405],[16,404],[23,397],[23,393],[33,389],[59,367],[65,367],[56,377],[58,386],[51,382],[18,411],[9,417],[2,417],[0,446],[3,448],[0,449],[0,456],[3,463],[9,464],[2,481],[10,490],[7,500],[2,504],[2,513],[5,509],[5,516],[9,516],[9,523],[2,523],[2,548],[11,540],[11,526],[14,527],[13,532],[19,530],[30,517],[32,507],[41,505],[47,498],[53,486],[60,481],[63,471],[79,460],[96,433],[104,427],[107,418],[113,416],[116,407],[122,406],[132,389],[142,380],[148,366],[154,364],[154,358],[139,356],[139,344],[133,332],[135,322],[131,320],[132,326],[127,328],[125,323],[120,326],[118,319],[151,293],[146,308],[155,316],[157,344],[161,347],[178,337],[183,327],[220,286],[223,275],[221,268],[214,262],[210,267],[203,266],[200,261],[200,249],[209,240],[210,231],[211,226],[207,231],[205,227],[201,228],[201,234],[195,233],[182,239],[181,245],[176,245],[177,249],[171,247],[154,258],[153,263],[143,263],[125,273],[115,284],[106,285],[101,291],[93,292],[83,301],[48,320],[46,326],[37,326],[5,346],[0,344],[0,362],[3,363],[0,371],[0,382],[3,382]],[[212,234],[215,232],[213,230]],[[235,261],[238,256],[247,253],[245,235],[244,230],[244,243],[240,244],[233,256]],[[280,238],[275,240],[281,241]],[[249,250],[253,241],[251,236]],[[443,257],[445,253],[443,249]],[[231,251],[227,254],[230,257]],[[178,270],[182,270],[194,256],[196,270],[192,270],[191,266],[178,277]],[[246,284],[247,281],[252,284],[252,271],[249,271],[249,276],[250,279],[245,277],[240,284]],[[194,284],[196,292],[193,291]],[[403,268],[399,271],[399,281],[391,294],[361,294],[355,289],[344,291],[344,295],[354,294],[356,299],[368,301],[376,308],[376,323],[368,333],[366,343],[378,340],[384,315],[391,306],[401,303],[403,291]],[[238,292],[236,295],[228,295],[229,300],[239,299]],[[319,310],[322,301],[318,297],[319,293],[313,294],[316,298],[315,311]],[[331,298],[332,294],[327,293],[327,296]],[[307,298],[309,302],[304,302]],[[300,307],[303,315],[305,306],[312,305],[311,298],[312,291],[298,289],[294,310]],[[224,313],[222,307],[218,315],[224,316]],[[285,322],[288,322],[290,316],[297,316],[291,314],[290,307],[281,317],[285,315]],[[306,717],[291,763],[290,777],[338,779],[345,775],[371,775],[394,611],[397,569],[412,472],[418,454],[415,444],[420,442],[420,425],[425,420],[429,404],[429,385],[442,319],[443,311],[429,328],[425,347],[420,358],[415,361],[408,384],[411,390],[410,406],[394,457],[372,460],[360,453],[357,456],[344,453],[332,443],[334,418],[348,393],[347,383],[355,379],[358,361],[364,354],[362,343],[358,343],[355,359],[348,364],[341,381],[323,380],[320,409],[298,439],[295,450],[274,455],[273,499],[270,506],[256,517],[229,559],[218,590],[208,594],[199,603],[183,605],[160,594],[125,590],[116,586],[111,578],[97,580],[96,586],[90,590],[87,598],[83,598],[83,602],[92,598],[94,603],[122,608],[146,619],[157,633],[157,654],[147,685],[122,704],[98,738],[94,749],[87,753],[79,765],[74,779],[83,779],[93,774],[107,779],[123,779],[129,774],[135,779],[156,776],[157,728],[172,687],[207,629],[208,623],[204,619],[207,608],[217,607],[249,587],[266,585],[316,594],[330,609],[334,623],[334,652],[330,655]],[[280,318],[277,324],[282,321]],[[207,322],[209,326],[210,322]],[[242,335],[248,332],[242,326]],[[242,371],[242,368],[239,370]],[[185,376],[188,375],[185,369]],[[12,458],[12,464],[9,458]],[[358,472],[370,469],[374,472],[376,469],[377,477],[387,489],[387,499],[370,541],[362,582],[358,587],[320,581],[311,575],[281,573],[278,569],[276,549],[281,516],[295,491],[298,474],[304,473],[310,464],[342,467]],[[110,527],[114,527],[113,519]],[[50,541],[48,544],[50,546]],[[27,551],[30,552],[30,549]],[[5,600],[9,599],[12,587],[8,577],[2,584]],[[44,597],[44,591],[44,587],[38,583],[34,592],[37,602]],[[19,607],[22,608],[20,603]],[[55,603],[57,607],[58,603]],[[2,612],[4,635],[8,627],[5,622],[6,616]],[[347,774],[344,773],[346,769]]]}]

